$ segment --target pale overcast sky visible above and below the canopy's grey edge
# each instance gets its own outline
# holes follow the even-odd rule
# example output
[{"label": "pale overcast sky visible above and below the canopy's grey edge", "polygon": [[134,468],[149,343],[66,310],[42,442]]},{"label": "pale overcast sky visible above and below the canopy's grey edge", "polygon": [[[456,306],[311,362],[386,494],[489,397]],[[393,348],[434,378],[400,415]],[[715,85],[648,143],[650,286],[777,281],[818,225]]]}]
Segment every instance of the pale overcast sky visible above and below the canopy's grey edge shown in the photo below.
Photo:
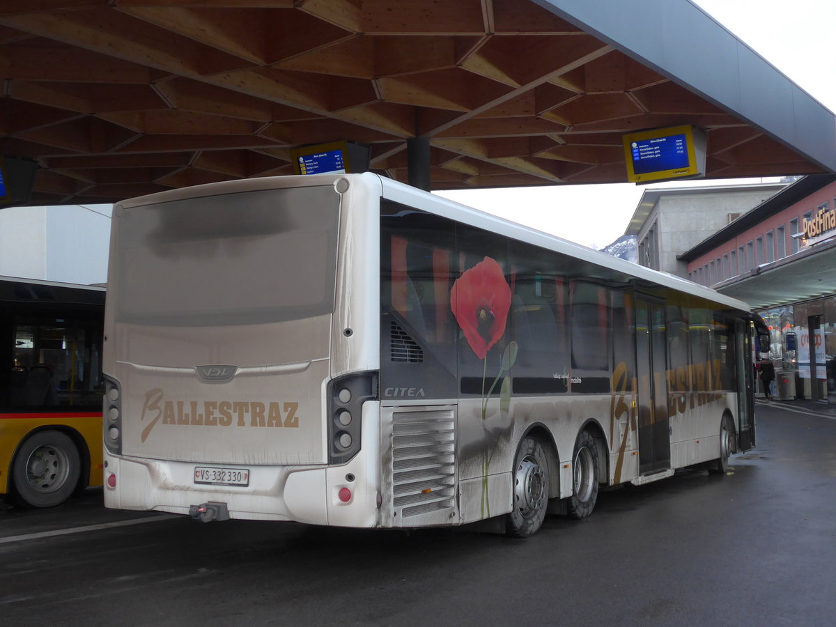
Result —
[{"label": "pale overcast sky visible above and below the canopy's grey edge", "polygon": [[[813,98],[836,111],[836,0],[693,2]],[[650,187],[723,182],[726,181],[679,181]],[[734,182],[759,183],[761,179]],[[624,183],[445,191],[441,195],[598,248],[624,234],[644,190],[644,186]]]}]

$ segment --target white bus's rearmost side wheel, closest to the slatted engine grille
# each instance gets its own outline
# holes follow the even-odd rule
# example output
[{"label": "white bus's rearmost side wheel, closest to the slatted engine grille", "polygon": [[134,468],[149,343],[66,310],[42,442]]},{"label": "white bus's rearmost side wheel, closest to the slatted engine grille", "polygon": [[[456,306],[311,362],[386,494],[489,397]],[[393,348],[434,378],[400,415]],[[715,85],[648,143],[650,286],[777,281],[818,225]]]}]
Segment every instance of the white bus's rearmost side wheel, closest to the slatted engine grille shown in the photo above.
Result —
[{"label": "white bus's rearmost side wheel, closest to the slatted engine grille", "polygon": [[520,442],[513,468],[512,510],[506,531],[514,538],[537,533],[548,507],[548,457],[543,444],[527,436]]}]

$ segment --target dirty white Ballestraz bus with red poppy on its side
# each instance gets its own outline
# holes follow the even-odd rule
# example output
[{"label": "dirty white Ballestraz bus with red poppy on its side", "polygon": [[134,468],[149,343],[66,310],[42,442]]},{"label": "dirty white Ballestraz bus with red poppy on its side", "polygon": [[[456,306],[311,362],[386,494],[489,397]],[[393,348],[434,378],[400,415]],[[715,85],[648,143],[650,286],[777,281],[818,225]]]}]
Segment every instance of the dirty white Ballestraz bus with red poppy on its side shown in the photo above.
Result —
[{"label": "dirty white Ballestraz bus with red poppy on its side", "polygon": [[107,507],[528,536],[754,445],[745,303],[374,174],[123,201],[110,250]]}]

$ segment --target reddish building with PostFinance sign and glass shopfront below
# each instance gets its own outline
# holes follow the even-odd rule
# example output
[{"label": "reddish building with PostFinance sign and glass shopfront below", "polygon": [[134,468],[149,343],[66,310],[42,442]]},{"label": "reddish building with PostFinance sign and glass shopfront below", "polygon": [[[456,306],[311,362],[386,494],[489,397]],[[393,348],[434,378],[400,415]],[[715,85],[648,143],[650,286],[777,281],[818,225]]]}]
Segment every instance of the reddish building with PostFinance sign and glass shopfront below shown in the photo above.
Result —
[{"label": "reddish building with PostFinance sign and glass shopfront below", "polygon": [[677,256],[772,334],[776,397],[836,404],[836,176],[805,176]]}]

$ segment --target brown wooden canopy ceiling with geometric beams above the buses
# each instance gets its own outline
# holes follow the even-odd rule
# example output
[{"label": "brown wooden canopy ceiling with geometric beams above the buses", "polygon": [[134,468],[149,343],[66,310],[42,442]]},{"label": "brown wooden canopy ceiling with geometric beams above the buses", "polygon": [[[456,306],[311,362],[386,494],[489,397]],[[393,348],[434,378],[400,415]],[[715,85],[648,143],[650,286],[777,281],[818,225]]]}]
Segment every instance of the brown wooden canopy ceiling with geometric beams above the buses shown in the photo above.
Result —
[{"label": "brown wooden canopy ceiling with geometric beams above the buses", "polygon": [[707,176],[822,171],[532,0],[0,0],[0,153],[29,204],[289,174],[354,140],[433,189],[623,182],[621,135],[707,130]]}]

